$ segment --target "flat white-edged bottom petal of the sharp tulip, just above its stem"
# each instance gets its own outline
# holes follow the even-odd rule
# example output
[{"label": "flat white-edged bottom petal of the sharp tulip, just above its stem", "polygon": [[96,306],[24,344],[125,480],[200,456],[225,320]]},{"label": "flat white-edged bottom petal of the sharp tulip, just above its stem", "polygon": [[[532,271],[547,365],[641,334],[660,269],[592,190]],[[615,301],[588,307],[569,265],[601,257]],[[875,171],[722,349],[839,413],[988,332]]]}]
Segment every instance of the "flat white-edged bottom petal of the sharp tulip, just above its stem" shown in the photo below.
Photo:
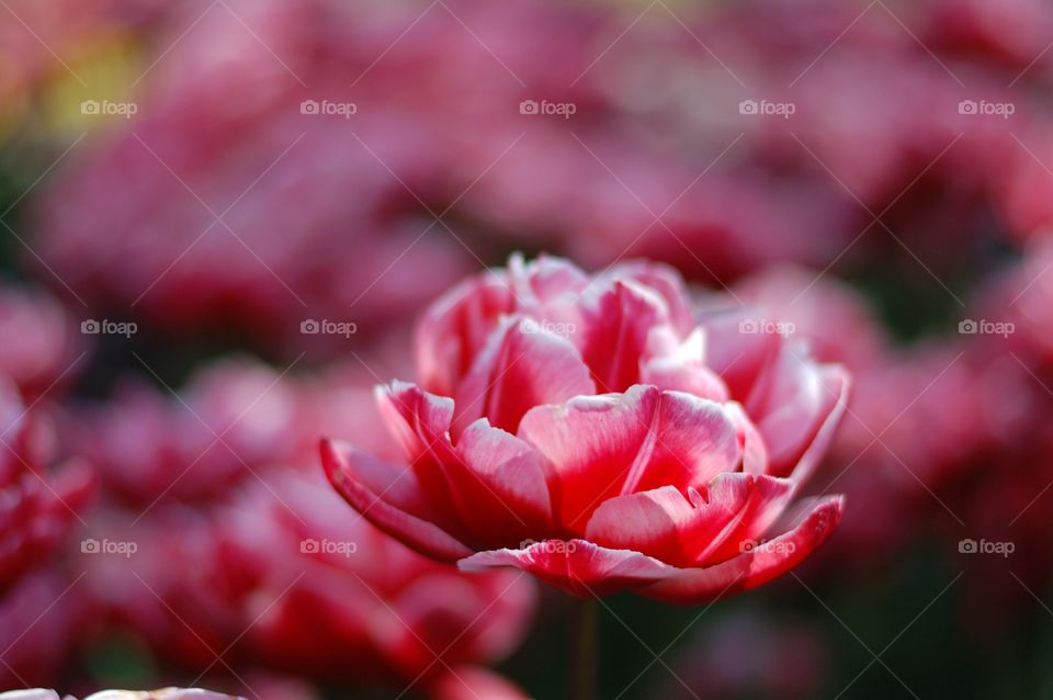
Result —
[{"label": "flat white-edged bottom petal of the sharp tulip, just above its stem", "polygon": [[513,566],[578,596],[607,596],[660,580],[675,567],[639,552],[611,550],[586,540],[545,540],[521,550],[478,552],[457,562],[476,572]]}]

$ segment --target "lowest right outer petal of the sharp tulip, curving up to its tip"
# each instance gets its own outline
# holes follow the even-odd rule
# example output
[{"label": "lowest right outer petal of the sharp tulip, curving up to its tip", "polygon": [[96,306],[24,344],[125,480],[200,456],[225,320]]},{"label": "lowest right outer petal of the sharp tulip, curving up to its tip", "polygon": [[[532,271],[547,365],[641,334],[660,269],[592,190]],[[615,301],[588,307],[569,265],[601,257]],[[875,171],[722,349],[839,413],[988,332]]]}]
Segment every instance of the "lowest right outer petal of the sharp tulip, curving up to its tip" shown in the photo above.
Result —
[{"label": "lowest right outer petal of the sharp tulip, curving up to its tip", "polygon": [[715,566],[677,569],[636,592],[665,602],[697,605],[756,588],[804,561],[834,531],[842,509],[840,496],[822,500],[796,528],[773,540]]}]

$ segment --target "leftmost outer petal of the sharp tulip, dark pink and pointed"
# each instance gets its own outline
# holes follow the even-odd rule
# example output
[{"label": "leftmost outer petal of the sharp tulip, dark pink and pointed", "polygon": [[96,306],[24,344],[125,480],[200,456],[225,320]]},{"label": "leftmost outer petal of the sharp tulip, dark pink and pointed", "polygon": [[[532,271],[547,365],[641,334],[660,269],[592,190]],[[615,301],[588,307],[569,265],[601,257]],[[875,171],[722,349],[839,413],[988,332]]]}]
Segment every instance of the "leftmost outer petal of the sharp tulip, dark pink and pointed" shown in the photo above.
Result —
[{"label": "leftmost outer petal of the sharp tulip, dark pink and pointed", "polygon": [[435,524],[420,483],[409,470],[385,464],[354,448],[321,442],[326,476],[348,504],[404,544],[434,558],[455,562],[472,551]]}]

